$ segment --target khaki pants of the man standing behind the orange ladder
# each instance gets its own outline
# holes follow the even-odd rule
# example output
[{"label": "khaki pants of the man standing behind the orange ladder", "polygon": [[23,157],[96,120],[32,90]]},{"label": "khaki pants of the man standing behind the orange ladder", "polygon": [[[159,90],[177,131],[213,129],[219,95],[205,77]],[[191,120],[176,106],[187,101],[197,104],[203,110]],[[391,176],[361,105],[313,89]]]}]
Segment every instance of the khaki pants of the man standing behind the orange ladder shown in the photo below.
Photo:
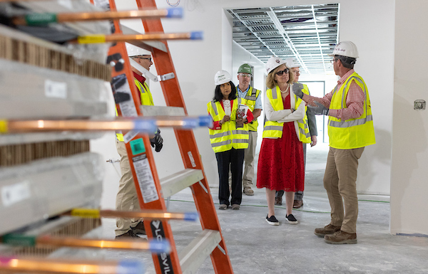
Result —
[{"label": "khaki pants of the man standing behind the orange ladder", "polygon": [[[119,180],[119,191],[116,195],[116,210],[118,211],[133,211],[141,209],[138,203],[138,196],[136,186],[133,181],[131,167],[129,166],[128,154],[126,153],[126,146],[124,142],[116,139],[116,149],[121,156],[121,179]],[[116,218],[116,236],[126,233],[131,226],[134,227],[138,224],[138,218]]]}]

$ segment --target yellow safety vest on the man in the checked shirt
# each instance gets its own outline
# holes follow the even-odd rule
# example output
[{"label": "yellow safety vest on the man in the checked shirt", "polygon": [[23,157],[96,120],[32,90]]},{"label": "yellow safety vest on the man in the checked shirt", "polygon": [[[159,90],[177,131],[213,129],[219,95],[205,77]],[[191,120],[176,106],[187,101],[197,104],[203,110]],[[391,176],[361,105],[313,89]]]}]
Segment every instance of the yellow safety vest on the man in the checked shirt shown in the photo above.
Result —
[{"label": "yellow safety vest on the man in the checked shirt", "polygon": [[336,149],[355,149],[376,143],[376,139],[374,138],[373,116],[369,91],[360,75],[352,73],[350,77],[345,80],[345,83],[342,84],[339,90],[337,90],[336,86],[335,90],[333,90],[330,109],[342,110],[347,107],[346,98],[352,81],[359,85],[365,93],[364,112],[356,119],[345,121],[329,116],[328,136],[330,138],[330,147],[334,147]]}]

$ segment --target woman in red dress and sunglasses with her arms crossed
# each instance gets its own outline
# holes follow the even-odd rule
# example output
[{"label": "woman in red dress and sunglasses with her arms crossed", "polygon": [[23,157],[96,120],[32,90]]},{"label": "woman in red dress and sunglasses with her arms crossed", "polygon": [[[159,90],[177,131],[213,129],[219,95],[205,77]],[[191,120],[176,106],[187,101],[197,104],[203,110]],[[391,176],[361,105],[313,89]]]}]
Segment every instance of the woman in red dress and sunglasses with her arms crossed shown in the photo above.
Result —
[{"label": "woman in red dress and sunglasses with her arms crossed", "polygon": [[285,191],[289,223],[297,223],[292,215],[295,191],[303,191],[305,170],[300,128],[305,128],[305,102],[292,93],[293,73],[285,61],[272,56],[266,63],[264,110],[266,115],[263,142],[258,159],[257,187],[266,188],[269,212],[266,221],[279,225],[275,218],[275,191]]}]

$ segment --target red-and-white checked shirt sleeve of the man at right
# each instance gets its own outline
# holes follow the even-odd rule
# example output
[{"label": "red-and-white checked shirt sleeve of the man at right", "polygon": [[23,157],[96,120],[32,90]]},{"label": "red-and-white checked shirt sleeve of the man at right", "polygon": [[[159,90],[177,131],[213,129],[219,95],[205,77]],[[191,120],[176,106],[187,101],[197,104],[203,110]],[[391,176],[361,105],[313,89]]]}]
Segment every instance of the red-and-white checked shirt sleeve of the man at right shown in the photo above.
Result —
[{"label": "red-and-white checked shirt sleeve of the man at right", "polygon": [[359,85],[352,81],[346,98],[346,108],[341,110],[330,110],[329,116],[336,117],[342,121],[356,119],[364,112],[365,93]]}]

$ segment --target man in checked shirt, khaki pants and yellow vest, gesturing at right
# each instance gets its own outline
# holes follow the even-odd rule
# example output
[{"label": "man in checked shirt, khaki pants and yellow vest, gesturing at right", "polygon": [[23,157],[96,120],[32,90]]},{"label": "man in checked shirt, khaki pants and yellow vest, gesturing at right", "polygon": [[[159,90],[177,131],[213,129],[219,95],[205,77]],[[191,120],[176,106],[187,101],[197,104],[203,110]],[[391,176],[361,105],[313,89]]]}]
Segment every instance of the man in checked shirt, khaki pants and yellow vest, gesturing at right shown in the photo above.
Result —
[{"label": "man in checked shirt, khaki pants and yellow vest, gesturing at right", "polygon": [[330,151],[324,174],[324,187],[331,207],[331,221],[315,228],[315,235],[326,243],[357,243],[357,168],[365,147],[375,144],[372,108],[367,85],[355,73],[357,46],[351,41],[337,44],[332,64],[340,79],[331,93],[315,98],[293,92],[315,106],[317,115],[327,115]]}]

